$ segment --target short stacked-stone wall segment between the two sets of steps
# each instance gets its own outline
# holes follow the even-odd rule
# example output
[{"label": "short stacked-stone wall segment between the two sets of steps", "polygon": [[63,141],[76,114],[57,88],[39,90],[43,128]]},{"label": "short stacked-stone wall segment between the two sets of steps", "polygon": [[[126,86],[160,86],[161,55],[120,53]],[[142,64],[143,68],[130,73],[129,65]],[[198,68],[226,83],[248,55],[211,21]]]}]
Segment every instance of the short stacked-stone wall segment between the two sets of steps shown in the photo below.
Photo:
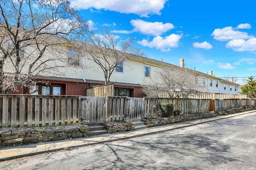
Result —
[{"label": "short stacked-stone wall segment between the two sets of steps", "polygon": [[106,122],[103,123],[105,128],[107,129],[108,133],[117,133],[117,132],[124,132],[124,131],[134,131],[134,125],[132,123],[126,122]]}]

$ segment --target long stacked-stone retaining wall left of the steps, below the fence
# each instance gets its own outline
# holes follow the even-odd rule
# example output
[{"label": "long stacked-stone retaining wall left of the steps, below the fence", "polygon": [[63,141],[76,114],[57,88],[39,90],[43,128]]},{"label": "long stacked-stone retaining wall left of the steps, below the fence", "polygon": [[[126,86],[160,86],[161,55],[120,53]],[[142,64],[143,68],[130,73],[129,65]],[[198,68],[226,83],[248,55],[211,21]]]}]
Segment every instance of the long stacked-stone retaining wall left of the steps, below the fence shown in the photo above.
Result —
[{"label": "long stacked-stone retaining wall left of the steps, below the fence", "polygon": [[79,125],[74,128],[61,126],[51,128],[24,128],[24,130],[6,128],[3,130],[0,129],[0,147],[87,137],[88,134],[89,127],[87,125]]}]

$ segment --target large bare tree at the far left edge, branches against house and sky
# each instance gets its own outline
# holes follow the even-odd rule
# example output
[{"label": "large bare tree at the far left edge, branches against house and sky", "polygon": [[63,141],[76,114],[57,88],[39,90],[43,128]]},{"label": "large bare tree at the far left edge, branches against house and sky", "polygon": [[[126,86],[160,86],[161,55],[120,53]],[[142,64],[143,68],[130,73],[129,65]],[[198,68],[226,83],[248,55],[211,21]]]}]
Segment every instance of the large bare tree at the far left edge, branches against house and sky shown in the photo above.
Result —
[{"label": "large bare tree at the far left edge, branches against house and sky", "polygon": [[68,0],[0,1],[0,93],[30,86],[66,66],[62,47],[78,39],[86,22]]}]

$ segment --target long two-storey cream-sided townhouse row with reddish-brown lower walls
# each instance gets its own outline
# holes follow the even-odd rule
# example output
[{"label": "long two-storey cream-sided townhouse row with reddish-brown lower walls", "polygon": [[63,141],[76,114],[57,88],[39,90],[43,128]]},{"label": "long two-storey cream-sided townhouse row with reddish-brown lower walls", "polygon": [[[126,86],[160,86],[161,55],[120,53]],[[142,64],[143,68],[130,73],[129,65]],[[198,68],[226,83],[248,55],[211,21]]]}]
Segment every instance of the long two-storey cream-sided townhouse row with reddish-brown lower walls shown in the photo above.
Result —
[{"label": "long two-storey cream-sided townhouse row with reddish-brown lower walls", "polygon": [[[25,54],[26,50],[24,49]],[[15,94],[44,94],[44,95],[81,95],[86,96],[86,88],[104,84],[104,73],[100,66],[84,54],[82,58],[75,57],[75,51],[70,45],[62,47],[62,57],[68,59],[65,67],[58,68],[60,74],[46,72],[37,77],[37,86],[30,88],[18,87]],[[51,53],[47,53],[51,57]],[[140,83],[142,80],[161,68],[175,70],[177,67],[184,67],[184,59],[180,60],[180,66],[164,63],[146,57],[134,56],[118,64],[110,77],[110,83],[114,83],[116,96],[129,96],[142,98],[145,94]],[[227,81],[209,74],[191,70],[195,74],[196,81],[208,86],[207,93],[218,94],[239,94],[240,85],[232,80]]]}]

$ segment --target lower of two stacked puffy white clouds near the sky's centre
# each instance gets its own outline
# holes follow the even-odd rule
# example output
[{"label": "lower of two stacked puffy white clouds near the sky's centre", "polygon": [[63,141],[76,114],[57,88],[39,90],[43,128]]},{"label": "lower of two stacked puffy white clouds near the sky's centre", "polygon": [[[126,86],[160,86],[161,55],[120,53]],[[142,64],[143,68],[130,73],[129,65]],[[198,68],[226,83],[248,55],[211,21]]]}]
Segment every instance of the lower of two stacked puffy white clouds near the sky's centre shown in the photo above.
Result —
[{"label": "lower of two stacked puffy white clouds near the sky's centre", "polygon": [[150,48],[161,49],[161,51],[170,51],[170,48],[178,47],[178,42],[181,37],[181,35],[176,34],[171,34],[166,37],[157,35],[152,41],[144,39],[142,41],[138,41],[138,43],[144,47],[147,46]]}]

